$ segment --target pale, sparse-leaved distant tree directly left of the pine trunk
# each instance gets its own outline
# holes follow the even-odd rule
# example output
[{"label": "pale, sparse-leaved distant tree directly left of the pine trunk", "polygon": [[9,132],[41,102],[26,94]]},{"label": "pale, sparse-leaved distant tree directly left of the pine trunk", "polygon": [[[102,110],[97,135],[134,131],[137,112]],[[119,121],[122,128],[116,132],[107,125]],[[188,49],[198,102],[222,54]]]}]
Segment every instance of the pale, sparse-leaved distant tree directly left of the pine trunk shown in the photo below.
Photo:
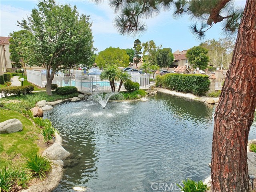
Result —
[{"label": "pale, sparse-leaved distant tree directly left of the pine trunk", "polygon": [[223,63],[223,67],[228,68],[233,56],[234,38],[220,38],[218,41],[215,39],[209,39],[200,43],[199,46],[208,49],[208,64],[210,66],[221,68],[221,63]]}]

